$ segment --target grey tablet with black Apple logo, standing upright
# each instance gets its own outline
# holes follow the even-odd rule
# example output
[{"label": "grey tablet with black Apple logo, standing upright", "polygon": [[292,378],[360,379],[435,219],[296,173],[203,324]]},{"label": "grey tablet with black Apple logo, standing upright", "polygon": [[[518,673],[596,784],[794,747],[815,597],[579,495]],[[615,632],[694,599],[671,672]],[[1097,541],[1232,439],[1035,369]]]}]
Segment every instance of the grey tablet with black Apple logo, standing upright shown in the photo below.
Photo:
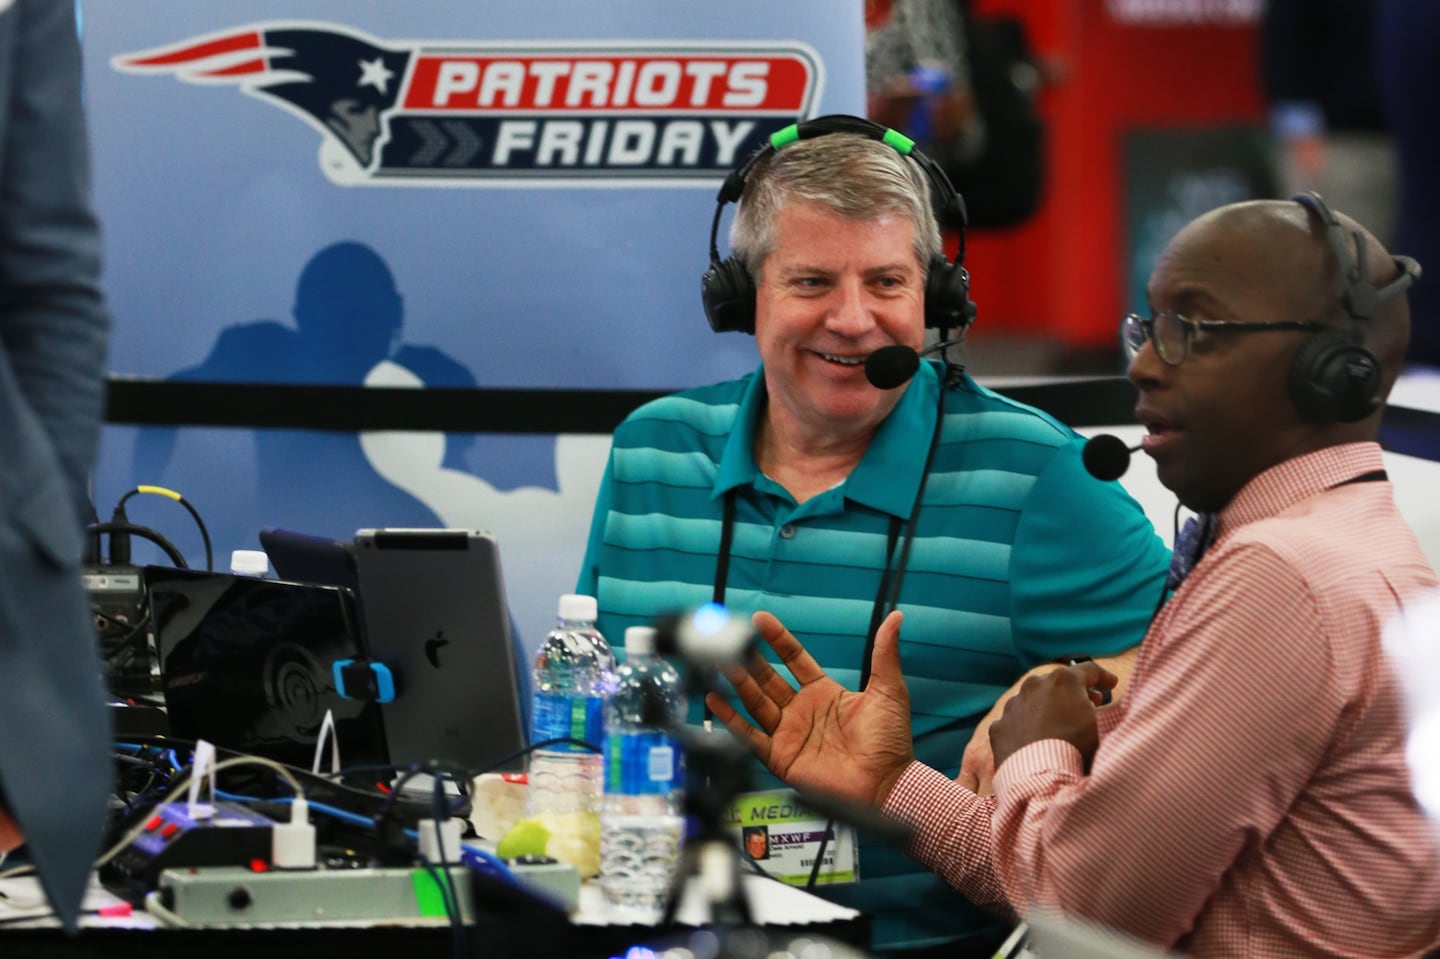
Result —
[{"label": "grey tablet with black Apple logo, standing upright", "polygon": [[[500,551],[477,530],[360,530],[370,658],[390,667],[390,762],[490,769],[527,743]],[[520,767],[516,760],[510,767]]]}]

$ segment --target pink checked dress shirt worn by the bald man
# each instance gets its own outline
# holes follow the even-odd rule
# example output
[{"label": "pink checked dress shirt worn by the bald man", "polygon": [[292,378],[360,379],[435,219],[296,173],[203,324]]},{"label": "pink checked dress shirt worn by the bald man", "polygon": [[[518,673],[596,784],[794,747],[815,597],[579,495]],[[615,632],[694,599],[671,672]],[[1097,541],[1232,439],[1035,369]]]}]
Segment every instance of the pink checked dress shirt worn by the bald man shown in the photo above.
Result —
[{"label": "pink checked dress shirt worn by the bald man", "polygon": [[[1440,845],[1380,634],[1436,575],[1374,444],[1250,481],[1165,605],[1090,775],[1043,740],[979,798],[919,763],[886,812],[978,901],[1041,903],[1194,956],[1418,956]],[[1436,636],[1440,642],[1440,636]]]}]

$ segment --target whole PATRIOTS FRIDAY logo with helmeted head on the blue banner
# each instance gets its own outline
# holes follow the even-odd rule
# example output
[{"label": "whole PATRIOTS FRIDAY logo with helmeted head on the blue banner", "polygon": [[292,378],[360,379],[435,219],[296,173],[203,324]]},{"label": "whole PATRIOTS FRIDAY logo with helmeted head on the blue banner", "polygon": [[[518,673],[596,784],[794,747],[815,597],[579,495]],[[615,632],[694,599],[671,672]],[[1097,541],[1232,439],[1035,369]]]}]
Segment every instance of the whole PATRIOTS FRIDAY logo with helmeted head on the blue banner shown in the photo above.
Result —
[{"label": "whole PATRIOTS FRIDAY logo with helmeted head on the blue banner", "polygon": [[812,115],[822,82],[802,43],[382,42],[294,22],[111,65],[289,111],[346,186],[710,184]]}]

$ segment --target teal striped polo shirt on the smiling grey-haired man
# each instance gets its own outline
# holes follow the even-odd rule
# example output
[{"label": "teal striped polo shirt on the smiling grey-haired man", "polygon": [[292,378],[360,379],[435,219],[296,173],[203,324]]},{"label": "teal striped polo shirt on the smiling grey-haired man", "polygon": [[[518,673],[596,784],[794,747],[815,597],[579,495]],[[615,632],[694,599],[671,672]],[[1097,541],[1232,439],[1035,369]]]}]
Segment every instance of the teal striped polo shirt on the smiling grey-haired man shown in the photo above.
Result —
[{"label": "teal striped polo shirt on the smiling grey-haired man", "polygon": [[[710,602],[734,491],[726,606],[775,613],[857,688],[891,517],[914,507],[939,399],[940,367],[923,363],[855,471],[801,504],[755,465],[763,370],[635,410],[615,431],[577,585],[599,600],[600,631],[621,645],[626,626]],[[1086,474],[1063,423],[969,376],[943,409],[899,606],[916,756],[956,775],[975,723],[1021,672],[1140,641],[1169,551],[1117,482]],[[860,871],[824,894],[870,913],[877,947],[988,922],[896,850],[863,841]]]}]

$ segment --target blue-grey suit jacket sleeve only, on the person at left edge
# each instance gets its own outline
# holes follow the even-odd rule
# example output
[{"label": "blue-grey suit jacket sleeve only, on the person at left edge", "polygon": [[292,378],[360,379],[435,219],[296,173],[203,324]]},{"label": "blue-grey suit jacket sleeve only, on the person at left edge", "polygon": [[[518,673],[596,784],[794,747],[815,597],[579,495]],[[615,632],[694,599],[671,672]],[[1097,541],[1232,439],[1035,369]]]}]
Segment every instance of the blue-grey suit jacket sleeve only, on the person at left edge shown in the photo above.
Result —
[{"label": "blue-grey suit jacket sleeve only, on the person at left edge", "polygon": [[[94,465],[108,320],[89,207],[73,4],[4,14],[9,84],[0,157],[0,346],[53,445],[76,510]],[[84,515],[76,513],[76,517]]]}]

